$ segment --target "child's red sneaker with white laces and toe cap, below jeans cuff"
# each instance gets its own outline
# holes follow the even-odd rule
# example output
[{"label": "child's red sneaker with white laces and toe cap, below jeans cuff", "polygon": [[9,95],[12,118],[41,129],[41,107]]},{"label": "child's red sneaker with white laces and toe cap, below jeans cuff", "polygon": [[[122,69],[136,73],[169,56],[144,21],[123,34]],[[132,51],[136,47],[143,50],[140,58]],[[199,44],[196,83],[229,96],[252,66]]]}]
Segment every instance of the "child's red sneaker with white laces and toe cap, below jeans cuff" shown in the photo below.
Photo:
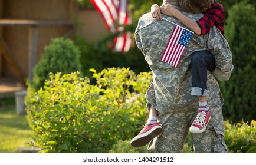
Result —
[{"label": "child's red sneaker with white laces and toe cap, below jeans cuff", "polygon": [[191,131],[191,133],[196,133],[196,134],[204,132],[210,119],[211,119],[210,111],[208,112],[204,110],[198,111],[198,115],[193,121],[191,127],[189,128],[189,131]]}]

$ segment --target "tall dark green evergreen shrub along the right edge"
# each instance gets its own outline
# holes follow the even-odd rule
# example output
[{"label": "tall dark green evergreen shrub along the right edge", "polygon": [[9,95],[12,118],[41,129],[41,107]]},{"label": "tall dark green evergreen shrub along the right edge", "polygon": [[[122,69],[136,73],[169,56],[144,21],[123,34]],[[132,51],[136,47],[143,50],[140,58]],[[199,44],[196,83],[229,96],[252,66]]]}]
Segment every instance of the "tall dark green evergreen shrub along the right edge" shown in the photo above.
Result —
[{"label": "tall dark green evergreen shrub along the right edge", "polygon": [[229,10],[225,30],[231,51],[234,71],[230,80],[221,82],[224,95],[224,117],[233,122],[250,121],[256,116],[256,14],[255,7],[240,2]]}]

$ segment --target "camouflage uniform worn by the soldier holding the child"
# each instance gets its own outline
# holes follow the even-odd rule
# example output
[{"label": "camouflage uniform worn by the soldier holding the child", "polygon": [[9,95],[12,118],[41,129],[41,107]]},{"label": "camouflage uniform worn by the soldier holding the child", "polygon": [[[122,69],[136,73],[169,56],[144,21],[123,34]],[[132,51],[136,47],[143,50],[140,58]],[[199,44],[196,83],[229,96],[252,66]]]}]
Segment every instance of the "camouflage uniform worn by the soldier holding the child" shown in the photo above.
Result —
[{"label": "camouflage uniform worn by the soldier holding the child", "polygon": [[[177,2],[166,2],[177,5]],[[176,6],[176,8],[178,8]],[[188,14],[198,20],[202,14]],[[185,27],[178,19],[162,15],[163,18]],[[206,35],[193,35],[183,53],[179,67],[174,68],[160,60],[175,25],[158,21],[150,13],[139,19],[135,31],[137,46],[145,55],[152,70],[153,81],[147,90],[147,108],[150,104],[158,110],[163,133],[150,144],[149,153],[180,153],[193,120],[198,113],[198,97],[191,95],[191,55],[195,51],[208,50],[214,57],[216,69],[208,71],[208,104],[212,118],[201,134],[191,134],[195,153],[227,153],[224,141],[222,117],[222,95],[218,80],[228,80],[232,72],[232,53],[229,45],[216,27]]]}]

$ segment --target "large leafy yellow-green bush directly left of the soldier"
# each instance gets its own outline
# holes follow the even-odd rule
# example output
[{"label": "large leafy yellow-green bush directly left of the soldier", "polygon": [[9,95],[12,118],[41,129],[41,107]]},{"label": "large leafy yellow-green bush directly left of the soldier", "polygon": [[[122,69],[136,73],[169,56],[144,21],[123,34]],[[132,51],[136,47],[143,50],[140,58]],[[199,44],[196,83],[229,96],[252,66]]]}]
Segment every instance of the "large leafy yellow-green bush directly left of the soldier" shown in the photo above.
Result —
[{"label": "large leafy yellow-green bush directly left of the soldier", "polygon": [[136,134],[145,122],[151,74],[109,68],[93,76],[51,74],[27,106],[35,145],[43,153],[107,153],[117,140]]}]

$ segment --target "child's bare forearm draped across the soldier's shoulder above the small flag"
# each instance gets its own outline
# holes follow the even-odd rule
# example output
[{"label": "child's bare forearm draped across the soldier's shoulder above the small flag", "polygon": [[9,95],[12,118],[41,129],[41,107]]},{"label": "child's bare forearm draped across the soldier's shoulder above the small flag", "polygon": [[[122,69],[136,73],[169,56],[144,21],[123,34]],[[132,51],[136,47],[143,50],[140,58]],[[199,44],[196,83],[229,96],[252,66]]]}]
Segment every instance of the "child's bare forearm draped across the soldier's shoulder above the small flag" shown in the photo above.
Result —
[{"label": "child's bare forearm draped across the soldier's shoulder above the small flag", "polygon": [[201,34],[201,28],[199,27],[198,23],[194,21],[193,19],[190,19],[183,15],[178,9],[176,9],[173,5],[167,4],[165,6],[160,7],[160,11],[162,14],[173,16],[177,19],[179,19],[182,24],[184,24],[186,27],[191,29],[191,31],[195,32],[195,34],[200,35]]}]

